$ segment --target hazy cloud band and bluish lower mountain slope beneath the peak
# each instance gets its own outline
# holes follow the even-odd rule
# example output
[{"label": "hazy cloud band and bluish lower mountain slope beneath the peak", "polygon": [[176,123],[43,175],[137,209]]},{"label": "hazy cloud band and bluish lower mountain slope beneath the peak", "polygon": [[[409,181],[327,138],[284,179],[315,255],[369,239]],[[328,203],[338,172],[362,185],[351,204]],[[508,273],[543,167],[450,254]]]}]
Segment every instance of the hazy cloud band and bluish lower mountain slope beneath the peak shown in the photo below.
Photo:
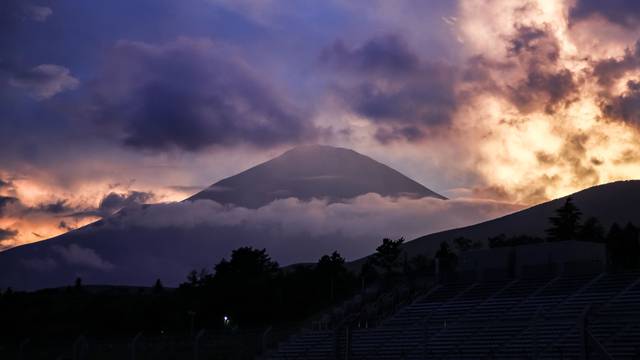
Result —
[{"label": "hazy cloud band and bluish lower mountain slope beneath the peak", "polygon": [[[266,248],[283,265],[338,250],[369,254],[382,237],[414,238],[520,209],[478,200],[360,196],[346,203],[283,199],[258,209],[211,200],[137,205],[58,238],[0,255],[0,286],[86,283],[177,285],[240,246]],[[71,280],[70,280],[71,279]]]}]

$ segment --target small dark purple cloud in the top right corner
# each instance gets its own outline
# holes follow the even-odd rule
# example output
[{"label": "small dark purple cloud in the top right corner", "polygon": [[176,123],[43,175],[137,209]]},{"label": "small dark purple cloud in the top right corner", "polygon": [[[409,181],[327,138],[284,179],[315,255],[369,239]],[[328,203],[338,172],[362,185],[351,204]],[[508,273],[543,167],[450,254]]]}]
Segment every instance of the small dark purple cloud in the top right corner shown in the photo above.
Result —
[{"label": "small dark purple cloud in the top right corner", "polygon": [[635,27],[640,20],[640,2],[632,0],[578,0],[571,8],[572,21],[599,15],[612,23]]}]

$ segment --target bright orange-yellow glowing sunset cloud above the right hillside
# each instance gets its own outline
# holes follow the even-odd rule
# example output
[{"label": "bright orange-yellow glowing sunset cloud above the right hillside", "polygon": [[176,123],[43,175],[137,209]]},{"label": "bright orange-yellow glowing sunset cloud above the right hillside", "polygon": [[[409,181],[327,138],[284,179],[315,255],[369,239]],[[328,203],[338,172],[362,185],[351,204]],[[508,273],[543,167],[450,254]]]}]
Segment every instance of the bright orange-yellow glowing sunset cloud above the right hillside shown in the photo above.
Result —
[{"label": "bright orange-yellow glowing sunset cloud above the right hillside", "polygon": [[[484,188],[500,189],[511,200],[536,203],[640,177],[640,162],[621,161],[640,150],[638,127],[603,112],[603,89],[591,72],[594,62],[624,56],[625,48],[585,43],[588,26],[570,26],[570,6],[460,2],[456,30],[468,56],[499,65],[484,67],[491,88],[460,84],[469,98],[454,126],[474,144],[470,156]],[[614,93],[632,79],[637,70],[619,79]]]}]

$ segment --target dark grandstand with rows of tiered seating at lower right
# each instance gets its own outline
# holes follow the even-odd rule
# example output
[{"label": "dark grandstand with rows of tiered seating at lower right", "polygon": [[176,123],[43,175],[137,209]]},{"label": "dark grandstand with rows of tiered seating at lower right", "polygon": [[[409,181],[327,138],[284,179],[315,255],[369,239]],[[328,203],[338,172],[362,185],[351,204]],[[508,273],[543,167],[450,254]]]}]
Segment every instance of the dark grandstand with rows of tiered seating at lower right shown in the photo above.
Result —
[{"label": "dark grandstand with rows of tiered seating at lower right", "polygon": [[306,330],[269,358],[640,359],[640,272],[563,269],[440,282],[376,326]]}]

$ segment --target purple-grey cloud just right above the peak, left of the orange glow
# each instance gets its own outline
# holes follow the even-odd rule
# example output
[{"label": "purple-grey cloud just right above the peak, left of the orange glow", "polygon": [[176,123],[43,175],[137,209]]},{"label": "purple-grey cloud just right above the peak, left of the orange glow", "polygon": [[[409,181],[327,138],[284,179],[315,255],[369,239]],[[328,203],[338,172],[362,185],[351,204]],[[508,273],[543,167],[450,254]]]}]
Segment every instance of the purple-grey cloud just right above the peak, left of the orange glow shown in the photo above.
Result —
[{"label": "purple-grey cloud just right above the peak, left of the orange glow", "polygon": [[381,142],[420,140],[423,128],[449,124],[456,110],[456,70],[421,60],[397,35],[356,47],[337,41],[320,61],[336,73],[336,94],[346,105],[380,126]]}]

